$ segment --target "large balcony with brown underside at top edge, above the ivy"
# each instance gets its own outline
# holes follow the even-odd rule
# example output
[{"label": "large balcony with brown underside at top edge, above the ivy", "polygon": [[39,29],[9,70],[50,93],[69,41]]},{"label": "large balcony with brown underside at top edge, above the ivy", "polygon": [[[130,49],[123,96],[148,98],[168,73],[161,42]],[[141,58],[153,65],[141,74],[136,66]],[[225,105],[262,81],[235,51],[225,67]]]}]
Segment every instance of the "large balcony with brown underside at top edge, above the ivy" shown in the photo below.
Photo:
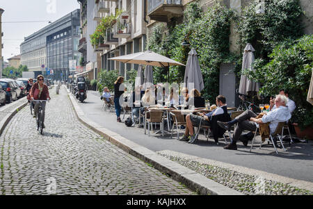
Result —
[{"label": "large balcony with brown underside at top edge, above the ivy", "polygon": [[182,0],[148,0],[147,15],[158,22],[168,22],[183,15]]}]

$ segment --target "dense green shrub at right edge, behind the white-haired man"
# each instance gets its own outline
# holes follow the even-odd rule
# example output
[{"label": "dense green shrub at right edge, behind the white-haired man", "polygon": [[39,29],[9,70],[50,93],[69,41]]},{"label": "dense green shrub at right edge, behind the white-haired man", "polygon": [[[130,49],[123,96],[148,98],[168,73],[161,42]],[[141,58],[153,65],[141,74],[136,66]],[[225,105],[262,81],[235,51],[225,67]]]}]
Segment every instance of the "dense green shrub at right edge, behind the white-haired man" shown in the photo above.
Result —
[{"label": "dense green shrub at right edge, behind the white-haired man", "polygon": [[313,35],[304,35],[294,44],[282,43],[273,49],[270,61],[257,60],[255,72],[244,71],[254,81],[262,83],[260,93],[277,94],[289,90],[289,97],[296,102],[293,121],[301,128],[313,125],[313,106],[306,101],[313,69]]}]

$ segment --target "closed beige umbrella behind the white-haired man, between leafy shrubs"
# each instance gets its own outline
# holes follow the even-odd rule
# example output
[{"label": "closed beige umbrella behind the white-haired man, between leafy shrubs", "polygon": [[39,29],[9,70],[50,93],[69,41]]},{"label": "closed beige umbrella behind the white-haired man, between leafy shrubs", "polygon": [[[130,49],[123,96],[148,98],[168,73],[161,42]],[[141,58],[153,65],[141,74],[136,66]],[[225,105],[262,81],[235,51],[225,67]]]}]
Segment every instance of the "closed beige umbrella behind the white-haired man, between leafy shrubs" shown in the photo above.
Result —
[{"label": "closed beige umbrella behind the white-haired man, between leafy shrubs", "polygon": [[[243,52],[243,61],[242,61],[242,70],[243,69],[252,69],[251,65],[255,61],[255,55],[253,54],[253,49],[251,44],[247,44]],[[247,95],[248,92],[259,92],[259,83],[250,81],[247,76],[241,75],[240,85],[239,85],[239,94]]]}]

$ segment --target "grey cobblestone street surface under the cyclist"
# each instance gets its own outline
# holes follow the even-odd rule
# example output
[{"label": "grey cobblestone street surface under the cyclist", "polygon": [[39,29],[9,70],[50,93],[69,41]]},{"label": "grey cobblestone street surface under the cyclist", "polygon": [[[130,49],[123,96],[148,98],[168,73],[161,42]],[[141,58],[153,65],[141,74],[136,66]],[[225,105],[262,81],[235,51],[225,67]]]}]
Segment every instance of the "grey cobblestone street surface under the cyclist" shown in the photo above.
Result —
[{"label": "grey cobblestone street surface under the cyclist", "polygon": [[50,94],[43,135],[26,106],[0,136],[0,194],[193,194],[83,126],[64,87]]}]

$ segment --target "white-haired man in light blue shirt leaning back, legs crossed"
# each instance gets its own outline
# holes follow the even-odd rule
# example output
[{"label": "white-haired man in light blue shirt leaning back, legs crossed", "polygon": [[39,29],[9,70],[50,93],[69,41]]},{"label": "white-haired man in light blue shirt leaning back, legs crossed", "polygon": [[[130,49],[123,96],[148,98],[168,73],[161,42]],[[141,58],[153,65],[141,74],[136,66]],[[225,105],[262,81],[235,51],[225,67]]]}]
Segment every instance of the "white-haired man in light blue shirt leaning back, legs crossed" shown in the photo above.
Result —
[{"label": "white-haired man in light blue shirt leaning back, legs crossed", "polygon": [[275,110],[272,110],[264,115],[262,118],[256,119],[257,115],[251,110],[246,110],[241,115],[236,117],[231,122],[218,122],[218,125],[225,130],[230,130],[230,127],[236,123],[238,125],[234,129],[233,140],[231,144],[228,144],[224,149],[236,150],[236,142],[239,140],[241,133],[246,131],[255,131],[258,124],[266,124],[271,122],[269,125],[271,134],[275,132],[279,122],[286,122],[291,118],[290,112],[287,108],[287,97],[278,94],[275,99]]}]

